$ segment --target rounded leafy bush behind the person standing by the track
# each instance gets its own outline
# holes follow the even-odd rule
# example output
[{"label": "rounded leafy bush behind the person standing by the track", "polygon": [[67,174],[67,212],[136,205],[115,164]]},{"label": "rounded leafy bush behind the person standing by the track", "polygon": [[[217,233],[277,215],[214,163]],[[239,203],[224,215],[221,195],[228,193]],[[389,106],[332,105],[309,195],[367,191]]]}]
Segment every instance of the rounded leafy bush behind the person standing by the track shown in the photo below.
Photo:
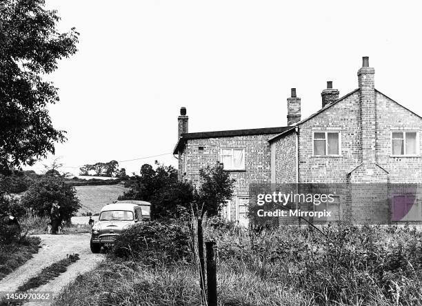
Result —
[{"label": "rounded leafy bush behind the person standing by the track", "polygon": [[60,205],[59,213],[64,221],[70,221],[81,208],[77,190],[66,184],[63,177],[44,176],[32,184],[22,198],[22,204],[32,208],[39,216],[49,216],[52,203],[56,201]]}]

